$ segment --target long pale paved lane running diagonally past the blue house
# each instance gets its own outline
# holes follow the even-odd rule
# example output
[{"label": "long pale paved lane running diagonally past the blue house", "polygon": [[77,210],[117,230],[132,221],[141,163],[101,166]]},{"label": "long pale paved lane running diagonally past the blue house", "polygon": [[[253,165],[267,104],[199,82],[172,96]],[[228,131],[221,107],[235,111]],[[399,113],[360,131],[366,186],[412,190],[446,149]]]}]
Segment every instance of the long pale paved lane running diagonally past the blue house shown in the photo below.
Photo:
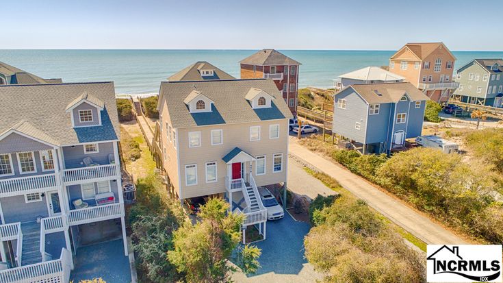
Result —
[{"label": "long pale paved lane running diagonally past the blue house", "polygon": [[305,160],[318,170],[331,175],[342,187],[363,199],[375,210],[385,215],[397,225],[411,232],[427,244],[465,244],[459,236],[446,230],[428,217],[409,208],[402,201],[383,193],[358,175],[351,173],[338,164],[322,158],[313,151],[296,143],[296,138],[290,137],[289,153]]}]

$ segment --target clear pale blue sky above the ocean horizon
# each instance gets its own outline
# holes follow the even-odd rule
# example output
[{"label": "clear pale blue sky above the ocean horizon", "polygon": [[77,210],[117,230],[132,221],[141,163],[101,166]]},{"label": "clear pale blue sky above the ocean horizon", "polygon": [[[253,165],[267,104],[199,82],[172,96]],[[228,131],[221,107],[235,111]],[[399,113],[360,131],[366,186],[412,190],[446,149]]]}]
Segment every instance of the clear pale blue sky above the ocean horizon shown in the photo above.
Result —
[{"label": "clear pale blue sky above the ocean horizon", "polygon": [[503,50],[502,0],[4,1],[0,49]]}]

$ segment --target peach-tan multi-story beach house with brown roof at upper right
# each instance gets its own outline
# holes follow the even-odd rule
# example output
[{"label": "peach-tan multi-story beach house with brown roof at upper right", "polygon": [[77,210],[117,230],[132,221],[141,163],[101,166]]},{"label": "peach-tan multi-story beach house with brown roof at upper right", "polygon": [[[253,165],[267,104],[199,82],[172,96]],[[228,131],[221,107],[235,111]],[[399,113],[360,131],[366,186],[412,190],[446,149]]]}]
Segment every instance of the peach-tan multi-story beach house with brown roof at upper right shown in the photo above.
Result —
[{"label": "peach-tan multi-story beach house with brown roof at upper right", "polygon": [[442,42],[407,43],[389,58],[389,71],[405,77],[431,100],[446,102],[459,85],[452,82],[454,61]]}]

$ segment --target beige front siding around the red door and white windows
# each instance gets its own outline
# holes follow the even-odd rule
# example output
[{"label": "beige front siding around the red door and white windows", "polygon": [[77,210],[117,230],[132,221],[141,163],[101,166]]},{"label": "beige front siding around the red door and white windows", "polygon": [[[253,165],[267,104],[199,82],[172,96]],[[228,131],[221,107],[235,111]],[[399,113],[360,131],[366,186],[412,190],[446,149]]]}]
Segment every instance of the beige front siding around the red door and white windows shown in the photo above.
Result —
[{"label": "beige front siding around the red door and white windows", "polygon": [[[279,124],[279,138],[269,138],[269,125]],[[250,126],[261,126],[261,139],[250,141]],[[211,145],[211,130],[222,129],[223,144]],[[188,133],[201,132],[201,147],[188,147]],[[208,127],[192,127],[177,129],[179,140],[179,171],[181,183],[182,199],[187,197],[198,197],[224,193],[225,177],[227,176],[227,164],[222,158],[234,147],[250,153],[252,156],[266,156],[266,174],[255,176],[255,162],[253,163],[253,177],[257,186],[268,184],[277,184],[286,182],[287,174],[287,153],[288,153],[288,120],[261,121],[257,123],[242,124],[222,124]],[[283,170],[280,173],[272,172],[272,156],[274,153],[283,153]],[[206,183],[205,163],[217,163],[217,182]],[[194,186],[185,186],[185,165],[197,164],[197,184]],[[248,170],[246,170],[248,171]],[[177,184],[175,184],[177,187]],[[177,187],[177,190],[179,188]]]}]

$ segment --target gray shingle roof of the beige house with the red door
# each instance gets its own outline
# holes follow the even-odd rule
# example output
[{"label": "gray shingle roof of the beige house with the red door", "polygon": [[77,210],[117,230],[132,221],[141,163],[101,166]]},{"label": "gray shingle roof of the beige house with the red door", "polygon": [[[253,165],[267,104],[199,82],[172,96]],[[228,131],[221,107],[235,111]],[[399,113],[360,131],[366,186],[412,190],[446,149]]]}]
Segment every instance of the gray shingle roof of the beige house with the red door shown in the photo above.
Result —
[{"label": "gray shingle roof of the beige house with the red door", "polygon": [[[250,88],[259,88],[274,97],[272,107],[253,109],[245,98]],[[183,101],[192,90],[197,90],[214,101],[211,112],[189,112]],[[272,79],[162,82],[159,106],[163,102],[166,102],[172,126],[175,128],[292,118],[292,112]]]}]

